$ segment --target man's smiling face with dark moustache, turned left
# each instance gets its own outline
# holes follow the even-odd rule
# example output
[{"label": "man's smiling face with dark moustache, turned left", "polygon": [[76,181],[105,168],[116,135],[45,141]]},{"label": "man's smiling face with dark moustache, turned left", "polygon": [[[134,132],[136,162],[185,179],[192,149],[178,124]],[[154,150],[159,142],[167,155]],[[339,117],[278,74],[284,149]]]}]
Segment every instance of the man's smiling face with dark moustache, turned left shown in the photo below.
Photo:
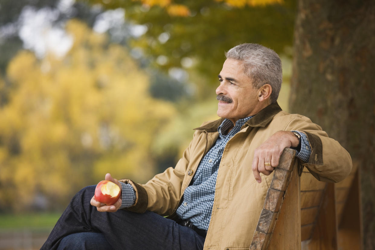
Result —
[{"label": "man's smiling face with dark moustache, turned left", "polygon": [[219,74],[220,85],[216,88],[217,115],[236,123],[240,118],[258,112],[258,90],[244,73],[241,61],[226,59]]}]

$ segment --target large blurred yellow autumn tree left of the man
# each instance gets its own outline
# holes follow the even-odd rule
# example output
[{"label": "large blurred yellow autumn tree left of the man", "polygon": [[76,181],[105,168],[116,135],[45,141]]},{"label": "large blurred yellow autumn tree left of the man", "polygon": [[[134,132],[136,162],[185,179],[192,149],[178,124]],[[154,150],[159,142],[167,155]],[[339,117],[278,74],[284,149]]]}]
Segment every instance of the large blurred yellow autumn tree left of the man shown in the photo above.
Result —
[{"label": "large blurred yellow autumn tree left of the man", "polygon": [[151,144],[174,108],[150,96],[147,74],[126,48],[77,20],[66,30],[74,44],[64,58],[21,51],[7,67],[13,87],[0,108],[3,210],[40,205],[40,195],[65,206],[106,172],[138,181],[154,173]]}]

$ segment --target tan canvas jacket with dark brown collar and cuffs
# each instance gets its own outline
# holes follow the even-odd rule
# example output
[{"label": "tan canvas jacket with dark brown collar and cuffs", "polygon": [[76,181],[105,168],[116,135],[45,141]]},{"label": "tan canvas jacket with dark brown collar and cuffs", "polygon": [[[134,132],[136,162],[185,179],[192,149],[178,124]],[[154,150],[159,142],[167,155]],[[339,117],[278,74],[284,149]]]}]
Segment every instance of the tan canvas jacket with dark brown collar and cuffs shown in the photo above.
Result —
[{"label": "tan canvas jacket with dark brown collar and cuffs", "polygon": [[[120,180],[130,183],[136,191],[135,205],[127,209],[138,213],[149,210],[163,216],[175,214],[199,162],[218,138],[217,127],[222,121],[196,128],[175,168],[166,169],[144,185]],[[277,103],[267,106],[247,121],[225,146],[204,249],[249,249],[272,179],[272,174],[261,174],[262,183],[255,180],[251,169],[254,150],[279,130],[298,130],[308,136],[310,160],[296,164],[306,166],[318,180],[338,182],[350,173],[350,155],[320,126],[302,115],[282,111]]]}]

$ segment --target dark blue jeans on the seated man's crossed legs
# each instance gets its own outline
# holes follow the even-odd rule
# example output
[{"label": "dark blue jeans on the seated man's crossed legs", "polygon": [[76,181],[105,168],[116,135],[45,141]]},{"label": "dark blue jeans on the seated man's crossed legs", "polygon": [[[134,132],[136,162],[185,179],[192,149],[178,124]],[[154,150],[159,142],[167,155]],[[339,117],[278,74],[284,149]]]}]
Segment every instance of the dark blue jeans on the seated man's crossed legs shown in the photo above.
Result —
[{"label": "dark blue jeans on the seated man's crossed legs", "polygon": [[203,249],[204,237],[153,212],[98,212],[94,191],[73,197],[41,249]]}]

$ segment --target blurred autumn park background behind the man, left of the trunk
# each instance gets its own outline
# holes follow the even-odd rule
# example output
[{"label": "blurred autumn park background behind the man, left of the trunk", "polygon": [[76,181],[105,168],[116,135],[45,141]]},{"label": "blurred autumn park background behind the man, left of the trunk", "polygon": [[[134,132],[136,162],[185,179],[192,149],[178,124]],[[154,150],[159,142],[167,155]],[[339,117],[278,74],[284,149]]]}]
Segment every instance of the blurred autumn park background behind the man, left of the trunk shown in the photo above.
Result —
[{"label": "blurred autumn park background behind the man, left of the trunk", "polygon": [[72,196],[174,166],[214,120],[224,52],[283,63],[297,0],[0,0],[0,249],[39,249]]}]

